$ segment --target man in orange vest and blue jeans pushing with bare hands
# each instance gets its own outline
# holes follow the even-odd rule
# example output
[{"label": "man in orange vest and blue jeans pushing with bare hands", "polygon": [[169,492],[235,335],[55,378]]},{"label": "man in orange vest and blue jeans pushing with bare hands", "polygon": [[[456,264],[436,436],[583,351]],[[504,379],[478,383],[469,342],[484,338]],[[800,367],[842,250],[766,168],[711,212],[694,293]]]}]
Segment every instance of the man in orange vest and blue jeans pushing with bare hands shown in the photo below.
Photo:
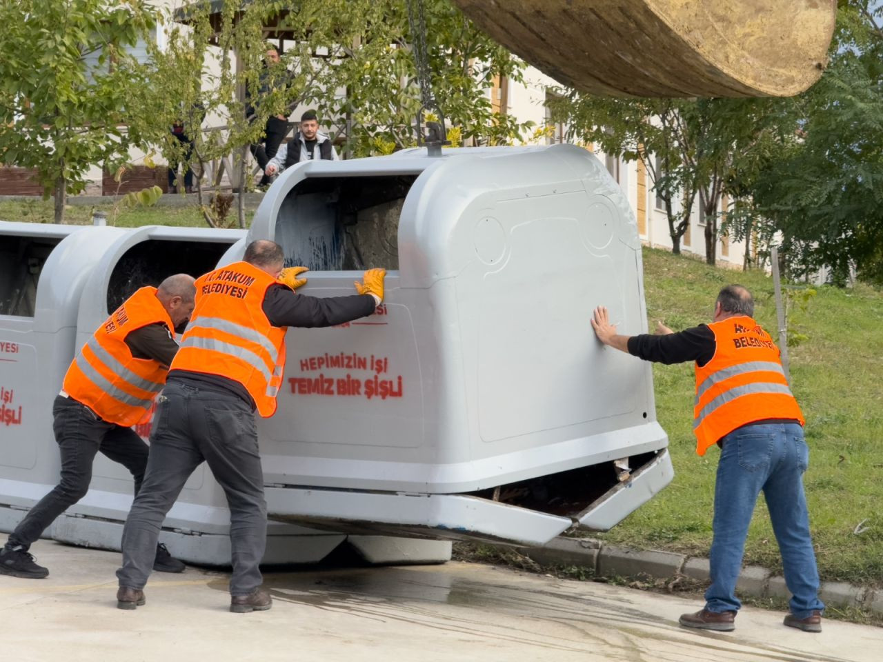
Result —
[{"label": "man in orange vest and blue jeans pushing with bare hands", "polygon": [[821,632],[825,605],[810,536],[803,476],[809,463],[804,416],[781,367],[779,348],[753,319],[751,293],[723,288],[711,324],[673,333],[659,324],[656,335],[618,335],[607,308],[595,309],[592,327],[605,345],[645,361],[696,362],[693,432],[698,455],[721,448],[714,488],[711,586],[706,606],[685,613],[686,628],[736,628],[736,580],[758,494],[763,491],[785,583],[791,591],[785,625]]}]

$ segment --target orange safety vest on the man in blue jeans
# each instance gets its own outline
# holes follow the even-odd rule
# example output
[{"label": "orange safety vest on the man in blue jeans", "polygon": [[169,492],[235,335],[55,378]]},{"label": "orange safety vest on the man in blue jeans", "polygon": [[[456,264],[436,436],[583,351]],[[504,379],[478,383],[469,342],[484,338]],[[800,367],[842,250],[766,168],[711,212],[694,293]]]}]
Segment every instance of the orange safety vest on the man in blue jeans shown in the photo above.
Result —
[{"label": "orange safety vest on the man in blue jeans", "polygon": [[748,316],[708,327],[716,349],[706,365],[696,365],[696,452],[705,455],[721,437],[754,421],[793,418],[804,425],[773,338]]}]

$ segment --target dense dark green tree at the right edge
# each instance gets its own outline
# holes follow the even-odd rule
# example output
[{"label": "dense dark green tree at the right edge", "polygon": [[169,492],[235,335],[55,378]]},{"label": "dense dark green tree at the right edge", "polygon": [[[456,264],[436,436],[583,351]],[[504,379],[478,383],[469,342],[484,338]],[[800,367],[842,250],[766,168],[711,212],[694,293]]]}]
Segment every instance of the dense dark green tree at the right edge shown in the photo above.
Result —
[{"label": "dense dark green tree at the right edge", "polygon": [[[779,233],[794,275],[832,267],[883,281],[883,6],[841,0],[830,64],[799,100],[796,131],[745,177],[743,225]],[[744,228],[742,228],[744,231]]]}]

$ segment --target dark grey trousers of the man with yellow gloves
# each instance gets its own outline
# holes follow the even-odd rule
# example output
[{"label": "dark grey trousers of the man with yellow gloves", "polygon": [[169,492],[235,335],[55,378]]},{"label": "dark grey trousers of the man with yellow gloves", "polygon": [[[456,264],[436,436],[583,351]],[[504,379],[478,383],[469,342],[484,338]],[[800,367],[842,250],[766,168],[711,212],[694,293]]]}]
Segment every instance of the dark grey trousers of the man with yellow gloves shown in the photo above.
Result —
[{"label": "dark grey trousers of the man with yellow gloves", "polygon": [[230,594],[248,595],[261,584],[258,565],[267,545],[267,502],[254,414],[236,395],[174,380],[157,402],[144,484],[123,529],[119,585],[144,588],[162,520],[187,478],[205,461],[230,507]]}]

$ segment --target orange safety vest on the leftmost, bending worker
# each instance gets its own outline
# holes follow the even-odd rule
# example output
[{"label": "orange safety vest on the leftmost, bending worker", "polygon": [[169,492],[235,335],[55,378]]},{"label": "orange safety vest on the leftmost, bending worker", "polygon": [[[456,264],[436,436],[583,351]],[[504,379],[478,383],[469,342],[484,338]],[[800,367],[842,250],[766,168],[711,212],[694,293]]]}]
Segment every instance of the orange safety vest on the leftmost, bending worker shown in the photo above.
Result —
[{"label": "orange safety vest on the leftmost, bending worker", "polygon": [[156,288],[141,288],[127,298],[74,357],[64,375],[64,391],[109,423],[126,427],[147,417],[165,386],[168,369],[152,358],[135,358],[126,337],[162,322],[174,333]]}]

